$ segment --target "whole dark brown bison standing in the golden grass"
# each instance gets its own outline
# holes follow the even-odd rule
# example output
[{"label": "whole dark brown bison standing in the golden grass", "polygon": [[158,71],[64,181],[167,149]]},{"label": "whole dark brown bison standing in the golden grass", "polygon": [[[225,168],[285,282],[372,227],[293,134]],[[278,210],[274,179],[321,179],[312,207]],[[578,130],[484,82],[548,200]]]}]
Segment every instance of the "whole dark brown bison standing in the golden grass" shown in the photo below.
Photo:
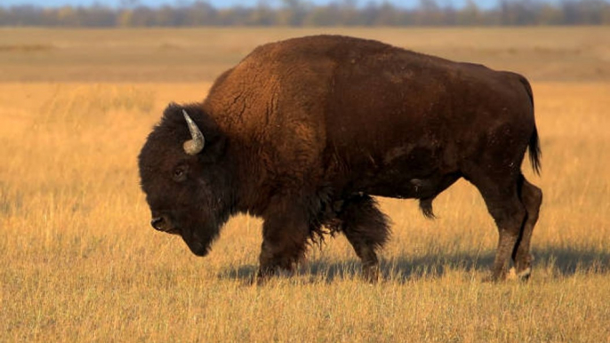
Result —
[{"label": "whole dark brown bison standing in the golden grass", "polygon": [[309,243],[346,235],[379,275],[389,220],[373,195],[432,201],[478,188],[499,231],[492,280],[530,275],[542,191],[521,172],[541,150],[526,78],[373,40],[264,44],[203,102],[170,104],[139,156],[152,227],[205,256],[237,213],[263,219],[259,276],[292,270]]}]

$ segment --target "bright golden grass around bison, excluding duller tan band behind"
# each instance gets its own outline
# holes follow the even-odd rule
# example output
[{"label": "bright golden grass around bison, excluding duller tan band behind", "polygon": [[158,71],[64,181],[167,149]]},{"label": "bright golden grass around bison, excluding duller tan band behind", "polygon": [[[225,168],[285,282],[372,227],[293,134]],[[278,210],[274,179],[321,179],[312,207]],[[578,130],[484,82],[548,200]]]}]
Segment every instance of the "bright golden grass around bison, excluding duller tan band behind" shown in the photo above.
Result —
[{"label": "bright golden grass around bison, excluding duller tan band behind", "polygon": [[[15,92],[17,103],[6,108],[19,107],[22,87],[0,85]],[[166,102],[155,90],[178,100],[205,90],[47,87],[30,99],[38,110],[2,112],[2,340],[610,337],[607,84],[534,84],[544,169],[530,179],[545,202],[530,283],[481,283],[497,233],[480,195],[459,182],[438,197],[434,221],[422,219],[414,202],[382,201],[394,235],[380,284],[359,279],[355,254],[337,237],[313,248],[298,275],[264,287],[248,283],[258,219],[231,220],[205,259],[148,227],[135,156]]]}]

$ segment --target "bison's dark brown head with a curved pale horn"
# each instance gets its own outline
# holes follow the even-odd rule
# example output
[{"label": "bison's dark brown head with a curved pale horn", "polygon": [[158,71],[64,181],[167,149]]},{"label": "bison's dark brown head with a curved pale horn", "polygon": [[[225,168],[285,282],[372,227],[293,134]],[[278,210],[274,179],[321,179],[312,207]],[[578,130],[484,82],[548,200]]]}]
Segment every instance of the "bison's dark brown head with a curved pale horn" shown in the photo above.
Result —
[{"label": "bison's dark brown head with a curved pale horn", "polygon": [[205,256],[231,213],[226,139],[197,106],[171,104],[139,156],[140,183],[159,231]]}]

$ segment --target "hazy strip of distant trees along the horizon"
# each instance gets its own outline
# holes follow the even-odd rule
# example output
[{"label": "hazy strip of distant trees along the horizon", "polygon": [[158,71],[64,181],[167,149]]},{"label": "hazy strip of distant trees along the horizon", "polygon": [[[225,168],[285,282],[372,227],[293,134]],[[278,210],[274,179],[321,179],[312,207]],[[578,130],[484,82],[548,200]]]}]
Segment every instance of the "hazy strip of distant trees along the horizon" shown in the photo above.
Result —
[{"label": "hazy strip of distant trees along the horizon", "polygon": [[284,0],[281,6],[261,1],[254,7],[216,8],[197,1],[162,7],[148,7],[137,0],[125,0],[113,8],[42,8],[32,5],[0,7],[0,26],[48,27],[197,27],[197,26],[501,26],[501,25],[608,25],[610,3],[606,0],[500,0],[491,9],[473,1],[455,8],[442,1],[421,0],[416,8],[369,3],[357,6],[353,0],[314,5],[301,0]]}]

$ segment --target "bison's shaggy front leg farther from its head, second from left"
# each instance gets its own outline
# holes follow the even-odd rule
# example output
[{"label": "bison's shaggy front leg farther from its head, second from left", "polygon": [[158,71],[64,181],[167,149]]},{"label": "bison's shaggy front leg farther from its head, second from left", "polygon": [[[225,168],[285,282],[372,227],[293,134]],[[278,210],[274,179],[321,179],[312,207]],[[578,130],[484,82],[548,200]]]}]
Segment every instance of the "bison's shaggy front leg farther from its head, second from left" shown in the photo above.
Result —
[{"label": "bison's shaggy front leg farther from its head, second from left", "polygon": [[377,251],[389,238],[389,220],[369,195],[357,195],[345,200],[338,216],[341,231],[362,260],[362,273],[366,280],[379,278]]}]

